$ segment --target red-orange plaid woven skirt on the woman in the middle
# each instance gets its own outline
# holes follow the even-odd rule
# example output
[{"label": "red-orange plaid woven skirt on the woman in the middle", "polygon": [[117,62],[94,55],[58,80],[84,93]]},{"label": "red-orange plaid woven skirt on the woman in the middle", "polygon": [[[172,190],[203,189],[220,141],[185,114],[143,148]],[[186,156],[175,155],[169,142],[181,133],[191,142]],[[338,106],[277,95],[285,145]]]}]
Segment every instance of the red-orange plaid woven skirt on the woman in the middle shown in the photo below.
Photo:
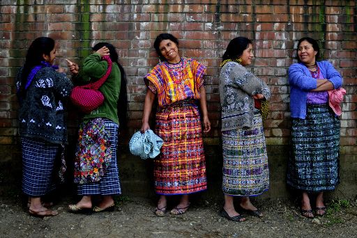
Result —
[{"label": "red-orange plaid woven skirt on the woman in the middle", "polygon": [[179,102],[158,111],[155,133],[164,141],[154,160],[155,192],[175,195],[205,190],[206,162],[197,106]]}]

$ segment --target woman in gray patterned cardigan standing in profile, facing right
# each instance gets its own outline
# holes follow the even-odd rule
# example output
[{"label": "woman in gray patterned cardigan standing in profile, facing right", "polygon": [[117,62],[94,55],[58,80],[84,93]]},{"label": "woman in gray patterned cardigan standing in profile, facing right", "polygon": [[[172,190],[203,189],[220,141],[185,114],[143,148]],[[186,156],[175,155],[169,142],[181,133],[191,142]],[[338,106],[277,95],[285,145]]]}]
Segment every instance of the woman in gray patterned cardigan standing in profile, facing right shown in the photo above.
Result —
[{"label": "woman in gray patterned cardigan standing in profile, facing right", "polygon": [[257,196],[269,187],[260,107],[271,93],[264,81],[245,68],[252,63],[252,58],[252,41],[234,38],[222,57],[220,70],[222,190],[225,193],[225,206],[220,214],[231,221],[245,221],[234,208],[234,196],[240,198],[241,210],[252,216],[263,216],[250,202],[250,196]]}]

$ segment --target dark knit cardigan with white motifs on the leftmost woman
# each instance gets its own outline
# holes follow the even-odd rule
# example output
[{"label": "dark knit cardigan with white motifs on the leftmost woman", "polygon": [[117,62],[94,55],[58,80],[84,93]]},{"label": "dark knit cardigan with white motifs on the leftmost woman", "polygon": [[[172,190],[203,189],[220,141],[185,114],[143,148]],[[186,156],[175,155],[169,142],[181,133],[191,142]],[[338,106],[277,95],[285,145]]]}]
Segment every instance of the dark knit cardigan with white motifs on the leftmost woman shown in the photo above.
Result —
[{"label": "dark knit cardigan with white motifs on the leftmost woman", "polygon": [[[17,74],[20,87],[22,69]],[[66,74],[45,67],[33,78],[26,97],[20,103],[20,136],[41,138],[50,143],[67,143],[67,126],[63,100],[70,95],[73,84]]]}]

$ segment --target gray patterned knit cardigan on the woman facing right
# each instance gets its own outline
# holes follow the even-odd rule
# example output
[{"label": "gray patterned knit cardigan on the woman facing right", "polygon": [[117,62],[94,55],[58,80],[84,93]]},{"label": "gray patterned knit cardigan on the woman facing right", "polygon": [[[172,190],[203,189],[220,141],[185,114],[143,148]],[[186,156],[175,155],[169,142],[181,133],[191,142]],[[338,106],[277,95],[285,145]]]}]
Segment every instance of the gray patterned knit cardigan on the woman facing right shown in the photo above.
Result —
[{"label": "gray patterned knit cardigan on the woman facing right", "polygon": [[242,65],[229,61],[220,70],[220,104],[222,106],[222,132],[252,127],[255,94],[268,100],[271,91]]}]

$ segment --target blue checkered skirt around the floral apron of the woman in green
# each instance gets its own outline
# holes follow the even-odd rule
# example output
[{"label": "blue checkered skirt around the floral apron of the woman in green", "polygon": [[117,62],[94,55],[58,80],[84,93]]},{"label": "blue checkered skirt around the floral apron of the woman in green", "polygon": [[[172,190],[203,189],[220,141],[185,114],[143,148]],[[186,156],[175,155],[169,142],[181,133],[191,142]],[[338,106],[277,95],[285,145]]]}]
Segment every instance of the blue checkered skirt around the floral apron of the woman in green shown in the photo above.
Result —
[{"label": "blue checkered skirt around the floral apron of the woman in green", "polygon": [[119,170],[116,162],[116,148],[118,147],[118,129],[119,125],[112,120],[105,119],[105,130],[109,133],[109,141],[111,143],[112,158],[107,167],[105,175],[98,182],[89,182],[86,184],[78,184],[77,193],[81,196],[90,195],[119,195],[121,194],[121,186],[119,181]]}]

